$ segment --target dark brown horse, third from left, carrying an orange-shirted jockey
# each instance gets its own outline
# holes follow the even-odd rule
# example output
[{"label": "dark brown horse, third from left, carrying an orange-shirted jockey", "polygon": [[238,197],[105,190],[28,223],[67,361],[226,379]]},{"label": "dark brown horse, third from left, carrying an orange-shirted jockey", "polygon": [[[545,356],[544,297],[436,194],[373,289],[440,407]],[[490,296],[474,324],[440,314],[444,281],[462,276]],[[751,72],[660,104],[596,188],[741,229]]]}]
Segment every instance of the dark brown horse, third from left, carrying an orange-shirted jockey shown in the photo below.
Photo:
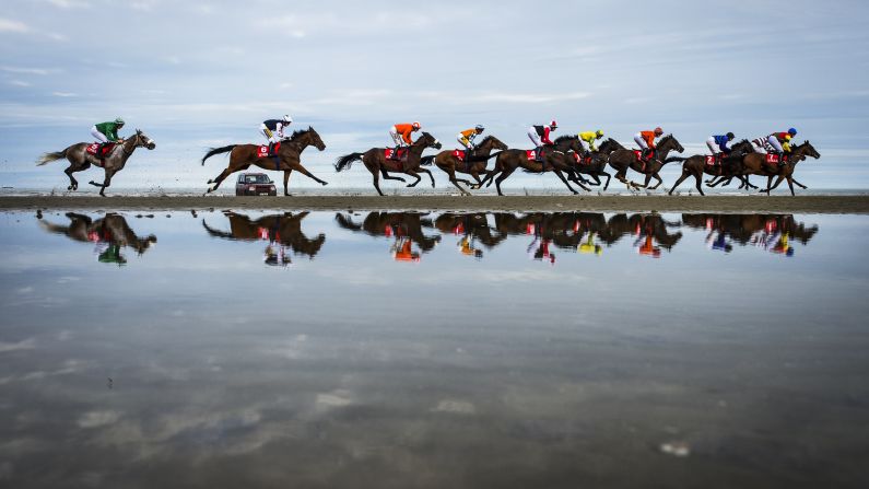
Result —
[{"label": "dark brown horse, third from left, carrying an orange-shirted jockey", "polygon": [[339,158],[334,161],[334,171],[342,172],[350,168],[354,161],[361,161],[365,167],[368,168],[368,172],[372,173],[374,188],[377,189],[377,194],[380,194],[380,196],[384,195],[379,184],[380,174],[383,174],[384,179],[387,181],[404,182],[404,178],[400,176],[389,176],[387,172],[400,172],[415,177],[416,181],[412,184],[408,184],[408,187],[415,187],[422,179],[416,172],[427,173],[428,177],[432,178],[432,188],[434,188],[434,175],[432,175],[432,172],[420,167],[420,159],[422,158],[422,152],[425,151],[426,148],[439,150],[442,147],[441,142],[434,136],[428,132],[423,132],[419,139],[413,141],[413,144],[407,148],[407,156],[403,160],[387,160],[386,148],[372,148],[364,153],[350,153]]}]

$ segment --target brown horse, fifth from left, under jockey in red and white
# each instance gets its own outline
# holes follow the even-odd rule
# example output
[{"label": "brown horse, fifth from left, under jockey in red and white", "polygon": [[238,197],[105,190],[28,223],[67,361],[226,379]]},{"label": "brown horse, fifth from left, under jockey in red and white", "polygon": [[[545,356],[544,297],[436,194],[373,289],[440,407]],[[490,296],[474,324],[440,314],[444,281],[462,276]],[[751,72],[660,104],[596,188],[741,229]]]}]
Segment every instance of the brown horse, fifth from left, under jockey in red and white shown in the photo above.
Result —
[{"label": "brown horse, fifth from left, under jockey in red and white", "polygon": [[[495,187],[497,188],[497,195],[503,196],[504,194],[501,191],[501,183],[504,182],[508,176],[513,174],[518,167],[522,167],[522,170],[527,173],[545,173],[545,172],[555,172],[555,175],[564,182],[564,185],[567,186],[567,189],[571,190],[573,194],[579,194],[578,191],[574,190],[571,187],[571,184],[567,182],[567,178],[564,177],[564,173],[571,177],[576,185],[583,188],[583,190],[590,191],[591,189],[583,185],[577,178],[576,174],[571,166],[568,161],[567,152],[579,152],[583,149],[583,144],[579,142],[579,138],[577,136],[562,136],[561,138],[554,141],[554,144],[547,144],[543,147],[541,152],[543,153],[543,161],[538,162],[536,160],[528,159],[528,152],[526,150],[505,150],[497,153],[497,158],[495,160],[495,167],[486,172],[485,178],[480,183],[480,186],[486,184],[486,187],[492,185],[494,181]],[[500,174],[500,175],[498,175]],[[495,175],[498,175],[497,178],[494,178]]]}]

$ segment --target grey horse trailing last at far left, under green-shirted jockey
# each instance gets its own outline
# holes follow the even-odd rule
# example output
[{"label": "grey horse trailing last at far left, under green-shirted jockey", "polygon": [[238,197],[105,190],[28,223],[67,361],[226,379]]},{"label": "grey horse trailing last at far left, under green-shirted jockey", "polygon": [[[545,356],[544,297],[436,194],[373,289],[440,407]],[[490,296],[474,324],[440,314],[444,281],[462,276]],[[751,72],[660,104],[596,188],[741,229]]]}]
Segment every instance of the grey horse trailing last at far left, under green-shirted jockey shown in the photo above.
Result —
[{"label": "grey horse trailing last at far left, under green-shirted jockey", "polygon": [[87,170],[91,165],[102,166],[105,171],[105,178],[103,179],[102,184],[97,184],[94,181],[89,182],[89,184],[99,187],[99,195],[105,197],[106,187],[111,184],[111,177],[124,170],[124,165],[127,164],[127,160],[132,155],[133,151],[137,148],[146,148],[148,150],[153,150],[156,148],[156,143],[153,139],[145,136],[141,130],[136,129],[136,133],[130,138],[127,138],[121,143],[116,144],[109,154],[105,158],[98,158],[94,154],[91,154],[86,151],[87,147],[91,145],[89,142],[79,142],[68,147],[63,151],[56,151],[54,153],[45,153],[43,154],[39,160],[37,161],[37,166],[43,166],[46,163],[50,163],[52,161],[61,160],[63,158],[70,162],[70,165],[63,173],[67,174],[69,177],[70,184],[67,187],[67,190],[78,190],[79,189],[79,182],[72,176],[75,172],[81,172],[83,170]]}]

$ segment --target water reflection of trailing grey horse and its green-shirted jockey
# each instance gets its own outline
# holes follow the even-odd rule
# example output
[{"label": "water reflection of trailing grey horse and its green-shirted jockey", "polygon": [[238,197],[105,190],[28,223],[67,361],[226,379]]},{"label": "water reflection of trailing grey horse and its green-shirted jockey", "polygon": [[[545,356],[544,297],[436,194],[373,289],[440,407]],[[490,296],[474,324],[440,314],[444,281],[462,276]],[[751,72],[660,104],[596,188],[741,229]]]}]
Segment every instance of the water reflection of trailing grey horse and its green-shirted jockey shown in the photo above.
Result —
[{"label": "water reflection of trailing grey horse and its green-shirted jockey", "polygon": [[122,248],[130,247],[136,251],[137,255],[142,255],[157,242],[157,237],[153,234],[139,237],[127,224],[127,219],[114,212],[108,212],[96,220],[75,212],[67,212],[66,216],[70,220],[69,225],[56,224],[42,217],[37,218],[39,225],[49,233],[62,234],[70,240],[83,243],[94,243],[97,260],[101,263],[125,265],[127,258],[121,254]]}]

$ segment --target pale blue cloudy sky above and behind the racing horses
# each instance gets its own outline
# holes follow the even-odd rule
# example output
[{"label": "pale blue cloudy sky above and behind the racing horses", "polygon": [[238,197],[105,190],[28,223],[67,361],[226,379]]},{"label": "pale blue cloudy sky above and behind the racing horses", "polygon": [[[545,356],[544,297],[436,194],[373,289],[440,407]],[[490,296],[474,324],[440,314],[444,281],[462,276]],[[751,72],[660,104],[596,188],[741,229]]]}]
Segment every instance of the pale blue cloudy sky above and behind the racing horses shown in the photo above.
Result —
[{"label": "pale blue cloudy sky above and behind the racing horses", "polygon": [[[3,4],[3,186],[64,188],[64,164],[37,168],[36,158],[120,116],[157,148],[113,186],[200,187],[225,164],[200,166],[208,148],[259,141],[263,119],[291,114],[327,144],[304,164],[339,188],[369,175],[336,174],[334,159],[387,144],[396,123],[420,120],[448,148],[482,124],[526,148],[527,128],[553,118],[559,133],[603,129],[624,143],[661,126],[692,154],[713,133],[796,127],[822,154],[798,170],[803,183],[869,188],[861,1]],[[679,168],[667,171],[671,183]]]}]

